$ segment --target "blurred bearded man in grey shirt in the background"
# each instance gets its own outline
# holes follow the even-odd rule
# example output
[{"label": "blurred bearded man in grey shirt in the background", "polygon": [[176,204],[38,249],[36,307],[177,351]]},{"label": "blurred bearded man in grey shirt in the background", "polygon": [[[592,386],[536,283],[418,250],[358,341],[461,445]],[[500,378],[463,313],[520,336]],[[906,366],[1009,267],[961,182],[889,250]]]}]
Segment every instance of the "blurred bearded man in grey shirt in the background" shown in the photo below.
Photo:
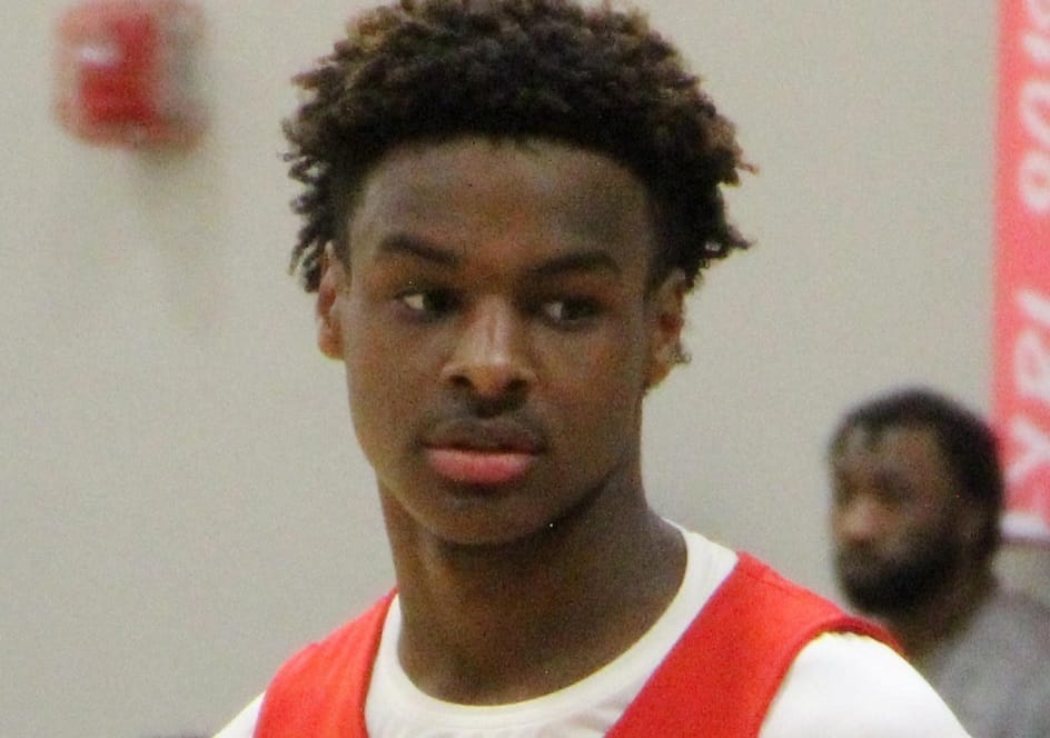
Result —
[{"label": "blurred bearded man in grey shirt in the background", "polygon": [[981,738],[1050,736],[1050,610],[995,581],[991,429],[924,389],[874,398],[831,443],[835,567]]}]

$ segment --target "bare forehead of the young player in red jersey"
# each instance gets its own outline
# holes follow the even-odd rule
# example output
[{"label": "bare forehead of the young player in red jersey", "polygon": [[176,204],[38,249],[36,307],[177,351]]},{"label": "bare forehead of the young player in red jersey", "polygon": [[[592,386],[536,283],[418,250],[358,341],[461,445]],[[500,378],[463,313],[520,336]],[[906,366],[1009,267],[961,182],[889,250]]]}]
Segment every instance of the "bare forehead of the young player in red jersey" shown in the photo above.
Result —
[{"label": "bare forehead of the young player in red jersey", "polygon": [[637,177],[601,153],[541,140],[465,137],[398,147],[365,178],[349,217],[355,248],[408,230],[449,246],[603,242],[647,262],[656,241]]}]

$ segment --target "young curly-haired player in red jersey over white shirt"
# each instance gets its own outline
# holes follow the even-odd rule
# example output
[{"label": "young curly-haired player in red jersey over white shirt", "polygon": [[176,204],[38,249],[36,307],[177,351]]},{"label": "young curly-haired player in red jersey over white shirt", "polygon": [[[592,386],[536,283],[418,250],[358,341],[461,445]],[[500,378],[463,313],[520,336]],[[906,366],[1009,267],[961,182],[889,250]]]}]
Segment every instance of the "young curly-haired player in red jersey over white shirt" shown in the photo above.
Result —
[{"label": "young curly-haired player in red jersey over white shirt", "polygon": [[642,17],[405,0],[299,83],[294,265],[397,587],[224,738],[964,735],[872,626],[646,502],[643,398],[747,167]]}]

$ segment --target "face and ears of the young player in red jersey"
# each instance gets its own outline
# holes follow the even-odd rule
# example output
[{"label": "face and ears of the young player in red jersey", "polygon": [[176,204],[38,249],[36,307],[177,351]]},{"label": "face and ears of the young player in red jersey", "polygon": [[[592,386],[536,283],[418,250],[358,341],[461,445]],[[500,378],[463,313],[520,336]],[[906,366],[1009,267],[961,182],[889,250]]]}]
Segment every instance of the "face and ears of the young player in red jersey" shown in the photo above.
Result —
[{"label": "face and ears of the young player in red jersey", "polygon": [[680,273],[647,289],[650,213],[627,170],[549,142],[378,163],[318,310],[388,525],[496,543],[596,497],[637,502],[642,398],[682,322]]}]

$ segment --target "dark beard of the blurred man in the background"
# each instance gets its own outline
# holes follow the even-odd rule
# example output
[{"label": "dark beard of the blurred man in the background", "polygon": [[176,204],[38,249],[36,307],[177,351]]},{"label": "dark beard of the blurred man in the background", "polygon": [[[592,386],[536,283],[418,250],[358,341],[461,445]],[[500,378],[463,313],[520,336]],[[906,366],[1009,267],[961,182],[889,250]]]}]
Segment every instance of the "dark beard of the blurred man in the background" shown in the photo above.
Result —
[{"label": "dark beard of the blurred man in the background", "polygon": [[839,585],[863,612],[892,616],[929,599],[959,567],[961,551],[951,535],[914,541],[904,556],[886,558],[868,550],[835,554]]}]

